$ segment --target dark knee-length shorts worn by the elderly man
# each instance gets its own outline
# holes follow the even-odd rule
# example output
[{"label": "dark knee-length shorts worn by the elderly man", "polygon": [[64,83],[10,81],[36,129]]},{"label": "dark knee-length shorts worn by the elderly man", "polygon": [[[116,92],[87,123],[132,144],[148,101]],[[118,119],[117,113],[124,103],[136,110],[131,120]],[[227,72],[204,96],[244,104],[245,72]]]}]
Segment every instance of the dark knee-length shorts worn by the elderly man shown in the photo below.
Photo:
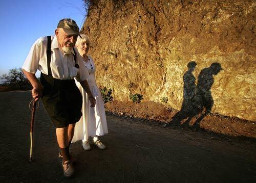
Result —
[{"label": "dark knee-length shorts worn by the elderly man", "polygon": [[42,102],[55,127],[67,127],[79,121],[82,96],[75,81],[53,79],[52,82],[47,75],[41,75],[40,81],[44,86]]}]

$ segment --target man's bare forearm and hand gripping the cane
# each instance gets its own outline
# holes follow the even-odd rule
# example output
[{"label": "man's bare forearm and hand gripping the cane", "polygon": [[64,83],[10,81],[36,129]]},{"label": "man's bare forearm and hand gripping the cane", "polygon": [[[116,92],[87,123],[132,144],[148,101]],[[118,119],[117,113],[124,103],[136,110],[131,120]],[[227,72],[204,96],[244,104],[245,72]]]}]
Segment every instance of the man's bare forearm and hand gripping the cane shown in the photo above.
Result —
[{"label": "man's bare forearm and hand gripping the cane", "polygon": [[32,97],[35,99],[35,101],[37,101],[42,96],[42,86],[40,82],[37,80],[35,74],[27,72],[24,69],[22,70],[33,87]]}]

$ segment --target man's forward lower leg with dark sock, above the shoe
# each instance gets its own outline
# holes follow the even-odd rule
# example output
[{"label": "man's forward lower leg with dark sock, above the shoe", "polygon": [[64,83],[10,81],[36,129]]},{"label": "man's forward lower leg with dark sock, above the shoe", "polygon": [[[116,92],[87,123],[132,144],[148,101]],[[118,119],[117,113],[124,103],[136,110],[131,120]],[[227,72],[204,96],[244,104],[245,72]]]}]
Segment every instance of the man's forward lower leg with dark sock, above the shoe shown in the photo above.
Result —
[{"label": "man's forward lower leg with dark sock, above the shoe", "polygon": [[56,128],[57,142],[61,151],[61,155],[63,156],[63,162],[70,160],[68,128],[69,127]]}]

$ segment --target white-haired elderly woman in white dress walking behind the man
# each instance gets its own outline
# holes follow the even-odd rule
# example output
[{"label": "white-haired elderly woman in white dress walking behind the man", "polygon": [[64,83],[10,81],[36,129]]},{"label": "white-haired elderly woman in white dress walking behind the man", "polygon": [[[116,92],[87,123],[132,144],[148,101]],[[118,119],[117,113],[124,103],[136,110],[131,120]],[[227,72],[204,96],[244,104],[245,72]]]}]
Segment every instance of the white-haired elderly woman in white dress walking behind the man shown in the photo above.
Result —
[{"label": "white-haired elderly woman in white dress walking behind the man", "polygon": [[83,64],[87,67],[89,72],[89,78],[87,79],[89,87],[93,96],[96,99],[96,105],[94,108],[90,108],[90,101],[88,94],[83,90],[79,82],[76,82],[79,88],[83,103],[82,103],[82,117],[79,122],[76,123],[75,133],[72,143],[82,140],[82,147],[84,150],[90,150],[89,137],[93,137],[93,143],[98,146],[99,149],[105,149],[98,136],[103,136],[108,133],[108,126],[106,125],[105,109],[102,100],[102,96],[95,81],[95,64],[92,57],[88,56],[90,48],[90,40],[86,35],[81,35],[77,38],[76,47],[79,54],[83,58]]}]

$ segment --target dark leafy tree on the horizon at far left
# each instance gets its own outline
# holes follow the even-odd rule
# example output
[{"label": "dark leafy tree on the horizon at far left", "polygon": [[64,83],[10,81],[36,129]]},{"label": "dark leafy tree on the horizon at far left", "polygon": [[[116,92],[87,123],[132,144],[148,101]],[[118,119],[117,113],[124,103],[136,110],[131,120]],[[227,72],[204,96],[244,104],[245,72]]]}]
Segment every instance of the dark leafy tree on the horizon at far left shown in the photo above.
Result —
[{"label": "dark leafy tree on the horizon at far left", "polygon": [[9,73],[3,74],[1,79],[4,81],[4,84],[15,85],[18,89],[29,83],[22,68],[10,69]]}]

